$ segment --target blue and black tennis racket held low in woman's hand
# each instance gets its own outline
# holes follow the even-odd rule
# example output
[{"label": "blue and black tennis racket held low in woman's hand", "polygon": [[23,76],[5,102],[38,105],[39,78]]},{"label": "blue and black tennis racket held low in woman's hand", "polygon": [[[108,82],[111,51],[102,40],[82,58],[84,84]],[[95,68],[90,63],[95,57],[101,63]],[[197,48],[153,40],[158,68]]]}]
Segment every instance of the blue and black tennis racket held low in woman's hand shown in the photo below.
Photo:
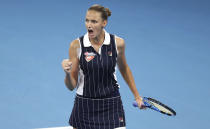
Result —
[{"label": "blue and black tennis racket held low in woman's hand", "polygon": [[[150,109],[153,109],[155,111],[158,111],[160,113],[166,114],[168,116],[176,115],[176,112],[172,108],[166,106],[165,104],[163,104],[153,98],[143,97],[143,102],[144,102],[144,106],[146,106]],[[133,102],[133,106],[138,107],[138,104],[136,101]]]}]

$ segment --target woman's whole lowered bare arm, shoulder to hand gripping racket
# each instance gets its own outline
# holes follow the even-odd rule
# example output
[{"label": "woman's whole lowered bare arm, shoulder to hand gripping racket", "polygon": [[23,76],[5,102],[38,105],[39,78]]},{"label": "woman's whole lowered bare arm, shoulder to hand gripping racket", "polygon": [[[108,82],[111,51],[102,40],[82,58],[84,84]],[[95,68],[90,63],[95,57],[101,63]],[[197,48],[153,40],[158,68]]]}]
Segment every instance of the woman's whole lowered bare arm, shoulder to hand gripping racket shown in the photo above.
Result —
[{"label": "woman's whole lowered bare arm, shoulder to hand gripping racket", "polygon": [[139,95],[136,88],[136,84],[132,75],[132,72],[126,62],[125,58],[125,42],[123,39],[116,37],[116,45],[118,50],[117,65],[120,70],[121,75],[128,84],[131,92],[133,93],[139,108],[143,108],[142,97]]}]

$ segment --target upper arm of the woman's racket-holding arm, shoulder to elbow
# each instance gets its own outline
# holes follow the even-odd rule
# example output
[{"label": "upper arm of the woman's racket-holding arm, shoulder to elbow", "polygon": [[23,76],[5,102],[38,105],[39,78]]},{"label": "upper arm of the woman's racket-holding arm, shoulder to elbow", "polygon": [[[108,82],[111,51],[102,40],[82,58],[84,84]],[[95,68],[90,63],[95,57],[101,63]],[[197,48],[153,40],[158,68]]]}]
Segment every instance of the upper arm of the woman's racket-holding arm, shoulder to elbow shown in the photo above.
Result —
[{"label": "upper arm of the woman's racket-holding arm, shoulder to elbow", "polygon": [[127,66],[125,58],[125,41],[122,38],[116,37],[116,45],[118,50],[117,65],[120,72],[122,72]]}]

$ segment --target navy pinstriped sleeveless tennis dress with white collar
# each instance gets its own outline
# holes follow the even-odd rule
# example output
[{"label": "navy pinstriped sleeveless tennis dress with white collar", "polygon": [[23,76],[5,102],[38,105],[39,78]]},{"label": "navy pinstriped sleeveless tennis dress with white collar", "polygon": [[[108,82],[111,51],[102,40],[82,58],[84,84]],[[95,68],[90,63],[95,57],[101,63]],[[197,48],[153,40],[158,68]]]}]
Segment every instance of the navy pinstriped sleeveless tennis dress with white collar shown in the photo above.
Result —
[{"label": "navy pinstriped sleeveless tennis dress with white collar", "polygon": [[80,37],[79,41],[79,80],[69,124],[77,129],[125,127],[124,109],[115,76],[115,36],[105,32],[99,52],[91,46],[88,34]]}]

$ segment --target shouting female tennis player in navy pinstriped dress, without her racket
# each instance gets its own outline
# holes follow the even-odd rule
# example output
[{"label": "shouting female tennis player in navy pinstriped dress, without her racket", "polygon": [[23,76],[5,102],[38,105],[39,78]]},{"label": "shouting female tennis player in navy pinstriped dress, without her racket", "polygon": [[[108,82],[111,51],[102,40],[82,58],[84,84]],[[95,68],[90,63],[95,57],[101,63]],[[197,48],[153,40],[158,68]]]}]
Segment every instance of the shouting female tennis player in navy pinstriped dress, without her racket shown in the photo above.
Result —
[{"label": "shouting female tennis player in navy pinstriped dress, without her racket", "polygon": [[131,70],[126,63],[125,42],[105,31],[111,11],[101,5],[86,13],[87,33],[70,44],[62,61],[65,84],[76,91],[69,124],[74,129],[125,129],[125,114],[116,78],[116,66],[143,108]]}]

